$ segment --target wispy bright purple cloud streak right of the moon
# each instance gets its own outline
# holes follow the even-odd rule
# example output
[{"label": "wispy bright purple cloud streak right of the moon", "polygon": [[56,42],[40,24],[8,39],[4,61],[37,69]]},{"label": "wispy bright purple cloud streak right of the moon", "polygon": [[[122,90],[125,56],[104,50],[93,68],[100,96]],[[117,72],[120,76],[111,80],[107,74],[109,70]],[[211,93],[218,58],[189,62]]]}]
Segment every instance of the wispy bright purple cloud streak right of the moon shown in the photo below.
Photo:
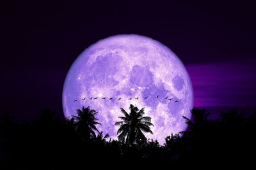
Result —
[{"label": "wispy bright purple cloud streak right of the moon", "polygon": [[194,106],[255,106],[256,59],[186,65]]}]

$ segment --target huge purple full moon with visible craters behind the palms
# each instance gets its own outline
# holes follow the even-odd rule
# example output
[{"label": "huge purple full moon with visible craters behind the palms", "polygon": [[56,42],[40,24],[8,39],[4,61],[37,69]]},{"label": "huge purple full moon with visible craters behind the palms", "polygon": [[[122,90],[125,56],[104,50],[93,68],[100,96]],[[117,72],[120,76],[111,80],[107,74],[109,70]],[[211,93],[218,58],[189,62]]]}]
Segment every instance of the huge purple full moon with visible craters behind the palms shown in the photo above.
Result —
[{"label": "huge purple full moon with visible craters behind the palms", "polygon": [[98,112],[99,131],[117,139],[120,108],[129,113],[130,104],[145,108],[154,124],[154,134],[145,136],[160,145],[166,136],[186,130],[182,116],[191,117],[193,89],[177,55],[159,41],[136,34],[111,36],[86,48],[65,79],[65,117],[90,106]]}]

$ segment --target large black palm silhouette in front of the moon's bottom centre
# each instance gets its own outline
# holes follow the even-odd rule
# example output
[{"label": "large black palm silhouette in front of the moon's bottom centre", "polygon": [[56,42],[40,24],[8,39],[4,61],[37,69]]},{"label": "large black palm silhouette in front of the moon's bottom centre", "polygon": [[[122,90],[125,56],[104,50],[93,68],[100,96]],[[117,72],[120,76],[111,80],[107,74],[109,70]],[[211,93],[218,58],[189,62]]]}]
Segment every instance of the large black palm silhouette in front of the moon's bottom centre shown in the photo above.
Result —
[{"label": "large black palm silhouette in front of the moon's bottom centre", "polygon": [[[120,128],[117,131],[118,140],[122,141],[129,145],[134,143],[146,142],[147,138],[144,136],[143,132],[153,132],[150,130],[150,126],[154,126],[151,123],[150,117],[143,117],[144,109],[139,109],[132,104],[130,104],[129,109],[131,112],[128,114],[123,108],[121,108],[124,117],[119,117],[122,121],[116,122],[115,125],[120,125]],[[143,131],[143,132],[141,132]],[[126,139],[125,139],[126,138]]]}]

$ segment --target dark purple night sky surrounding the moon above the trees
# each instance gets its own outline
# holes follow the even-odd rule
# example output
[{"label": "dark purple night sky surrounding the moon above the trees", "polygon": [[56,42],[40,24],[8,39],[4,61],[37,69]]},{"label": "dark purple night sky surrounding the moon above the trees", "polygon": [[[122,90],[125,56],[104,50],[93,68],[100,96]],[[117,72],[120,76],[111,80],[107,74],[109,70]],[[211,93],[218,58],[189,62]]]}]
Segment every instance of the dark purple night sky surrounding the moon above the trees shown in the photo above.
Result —
[{"label": "dark purple night sky surrounding the moon above the trees", "polygon": [[[166,1],[167,2],[167,1]],[[8,1],[1,15],[1,114],[62,114],[62,90],[85,48],[116,34],[160,41],[188,69],[194,106],[256,106],[253,1]],[[190,3],[189,3],[190,2]]]}]

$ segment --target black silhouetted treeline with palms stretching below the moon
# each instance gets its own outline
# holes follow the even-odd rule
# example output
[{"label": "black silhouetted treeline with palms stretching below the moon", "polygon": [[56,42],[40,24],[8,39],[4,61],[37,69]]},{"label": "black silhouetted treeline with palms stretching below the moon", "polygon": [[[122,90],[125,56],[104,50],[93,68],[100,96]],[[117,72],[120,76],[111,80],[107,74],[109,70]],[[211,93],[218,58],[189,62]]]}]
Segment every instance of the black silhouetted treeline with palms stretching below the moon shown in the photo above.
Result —
[{"label": "black silhouetted treeline with palms stretching below the moon", "polygon": [[[206,110],[193,108],[191,120],[184,117],[188,131],[170,134],[160,146],[143,135],[151,132],[150,117],[143,117],[143,109],[132,105],[130,109],[131,113],[122,110],[124,117],[116,123],[119,141],[107,141],[108,134],[98,131],[97,112],[89,107],[77,110],[77,117],[69,120],[48,109],[31,122],[3,115],[0,169],[122,169],[255,161],[256,113],[245,117],[232,109],[218,120],[209,120]],[[129,124],[134,121],[139,121],[137,127]]]}]

